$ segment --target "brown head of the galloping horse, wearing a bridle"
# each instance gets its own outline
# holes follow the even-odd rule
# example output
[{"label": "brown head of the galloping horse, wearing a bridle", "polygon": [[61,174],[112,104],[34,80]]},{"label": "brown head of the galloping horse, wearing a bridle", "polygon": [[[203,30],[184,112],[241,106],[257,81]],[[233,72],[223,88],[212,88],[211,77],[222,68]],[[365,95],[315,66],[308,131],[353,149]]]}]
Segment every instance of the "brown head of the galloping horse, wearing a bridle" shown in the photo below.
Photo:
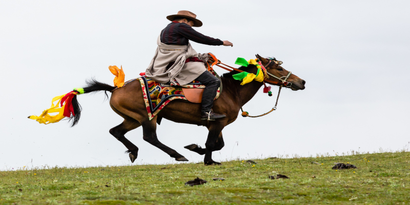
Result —
[{"label": "brown head of the galloping horse, wearing a bridle", "polygon": [[[266,70],[268,71],[268,74],[270,74],[270,78],[269,78],[270,80],[280,82],[280,80],[272,77],[271,75],[280,78],[282,76],[284,77],[289,74],[289,71],[285,70],[282,66],[280,66],[281,61],[277,61],[276,59],[272,60],[272,59],[264,58],[258,54],[256,54],[256,57],[260,59],[262,65],[265,66]],[[292,90],[303,90],[305,88],[304,84],[306,84],[306,81],[294,75],[293,73],[289,76],[289,78],[286,81],[292,83],[292,86],[291,86]],[[269,82],[267,83],[269,84]]]}]

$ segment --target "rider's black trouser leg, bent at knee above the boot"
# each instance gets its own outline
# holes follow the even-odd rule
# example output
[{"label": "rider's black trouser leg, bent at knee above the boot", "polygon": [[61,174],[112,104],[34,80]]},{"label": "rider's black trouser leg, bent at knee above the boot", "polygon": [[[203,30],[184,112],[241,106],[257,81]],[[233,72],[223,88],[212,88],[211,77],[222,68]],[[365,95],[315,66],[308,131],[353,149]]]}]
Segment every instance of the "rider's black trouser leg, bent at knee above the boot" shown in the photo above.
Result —
[{"label": "rider's black trouser leg, bent at knee above the boot", "polygon": [[201,112],[209,112],[214,104],[216,91],[218,91],[221,81],[208,71],[203,72],[195,80],[206,86],[202,94]]}]

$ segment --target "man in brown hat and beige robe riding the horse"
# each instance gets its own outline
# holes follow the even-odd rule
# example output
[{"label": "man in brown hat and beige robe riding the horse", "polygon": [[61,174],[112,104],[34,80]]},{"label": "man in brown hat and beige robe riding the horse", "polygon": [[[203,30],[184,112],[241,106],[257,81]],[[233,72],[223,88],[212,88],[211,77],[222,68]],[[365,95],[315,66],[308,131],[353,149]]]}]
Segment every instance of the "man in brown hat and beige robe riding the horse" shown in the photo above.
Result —
[{"label": "man in brown hat and beige robe riding the horse", "polygon": [[220,80],[208,72],[204,65],[209,54],[197,53],[189,40],[210,46],[232,47],[233,44],[195,31],[192,27],[201,27],[202,22],[190,11],[178,11],[176,15],[167,16],[167,19],[172,22],[158,36],[158,48],[145,74],[163,84],[171,82],[172,85],[182,86],[193,80],[199,81],[206,86],[202,94],[201,119],[226,117],[212,111]]}]

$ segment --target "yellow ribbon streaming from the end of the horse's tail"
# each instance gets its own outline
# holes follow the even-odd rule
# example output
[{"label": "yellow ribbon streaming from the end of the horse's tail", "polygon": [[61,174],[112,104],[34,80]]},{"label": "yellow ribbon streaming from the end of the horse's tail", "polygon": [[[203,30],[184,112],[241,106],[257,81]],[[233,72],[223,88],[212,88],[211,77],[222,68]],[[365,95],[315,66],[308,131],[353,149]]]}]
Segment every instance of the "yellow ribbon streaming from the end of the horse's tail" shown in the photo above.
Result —
[{"label": "yellow ribbon streaming from the end of the horse's tail", "polygon": [[[51,100],[51,107],[45,111],[40,116],[36,115],[31,115],[29,118],[34,119],[38,121],[40,124],[50,124],[54,122],[58,122],[61,119],[63,119],[65,116],[64,114],[64,108],[66,107],[66,104],[63,105],[63,107],[59,108],[61,98],[63,98],[66,94],[56,96]],[[58,100],[58,103],[54,105],[54,102]],[[49,113],[56,113],[56,115],[49,115]]]}]

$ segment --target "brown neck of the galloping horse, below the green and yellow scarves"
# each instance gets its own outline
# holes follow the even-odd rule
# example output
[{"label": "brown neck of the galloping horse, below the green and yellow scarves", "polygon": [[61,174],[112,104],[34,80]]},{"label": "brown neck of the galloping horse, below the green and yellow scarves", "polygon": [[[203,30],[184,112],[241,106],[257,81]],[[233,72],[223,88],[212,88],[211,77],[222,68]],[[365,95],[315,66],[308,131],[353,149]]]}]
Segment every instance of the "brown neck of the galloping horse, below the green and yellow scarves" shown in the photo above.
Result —
[{"label": "brown neck of the galloping horse, below the green and yellow scarves", "polygon": [[[254,73],[254,74],[257,72],[256,67],[255,68],[251,67],[251,68],[247,68],[243,70],[249,73]],[[227,82],[227,85],[226,86],[224,85],[223,89],[229,90],[230,91],[229,93],[231,95],[234,95],[234,96],[231,96],[231,98],[237,101],[236,103],[240,107],[248,103],[248,101],[251,100],[255,96],[255,94],[258,92],[260,87],[262,87],[263,85],[263,83],[255,81],[255,80],[243,86],[240,85],[242,80],[234,80],[233,78],[230,78],[230,79],[225,78],[224,81]]]}]

